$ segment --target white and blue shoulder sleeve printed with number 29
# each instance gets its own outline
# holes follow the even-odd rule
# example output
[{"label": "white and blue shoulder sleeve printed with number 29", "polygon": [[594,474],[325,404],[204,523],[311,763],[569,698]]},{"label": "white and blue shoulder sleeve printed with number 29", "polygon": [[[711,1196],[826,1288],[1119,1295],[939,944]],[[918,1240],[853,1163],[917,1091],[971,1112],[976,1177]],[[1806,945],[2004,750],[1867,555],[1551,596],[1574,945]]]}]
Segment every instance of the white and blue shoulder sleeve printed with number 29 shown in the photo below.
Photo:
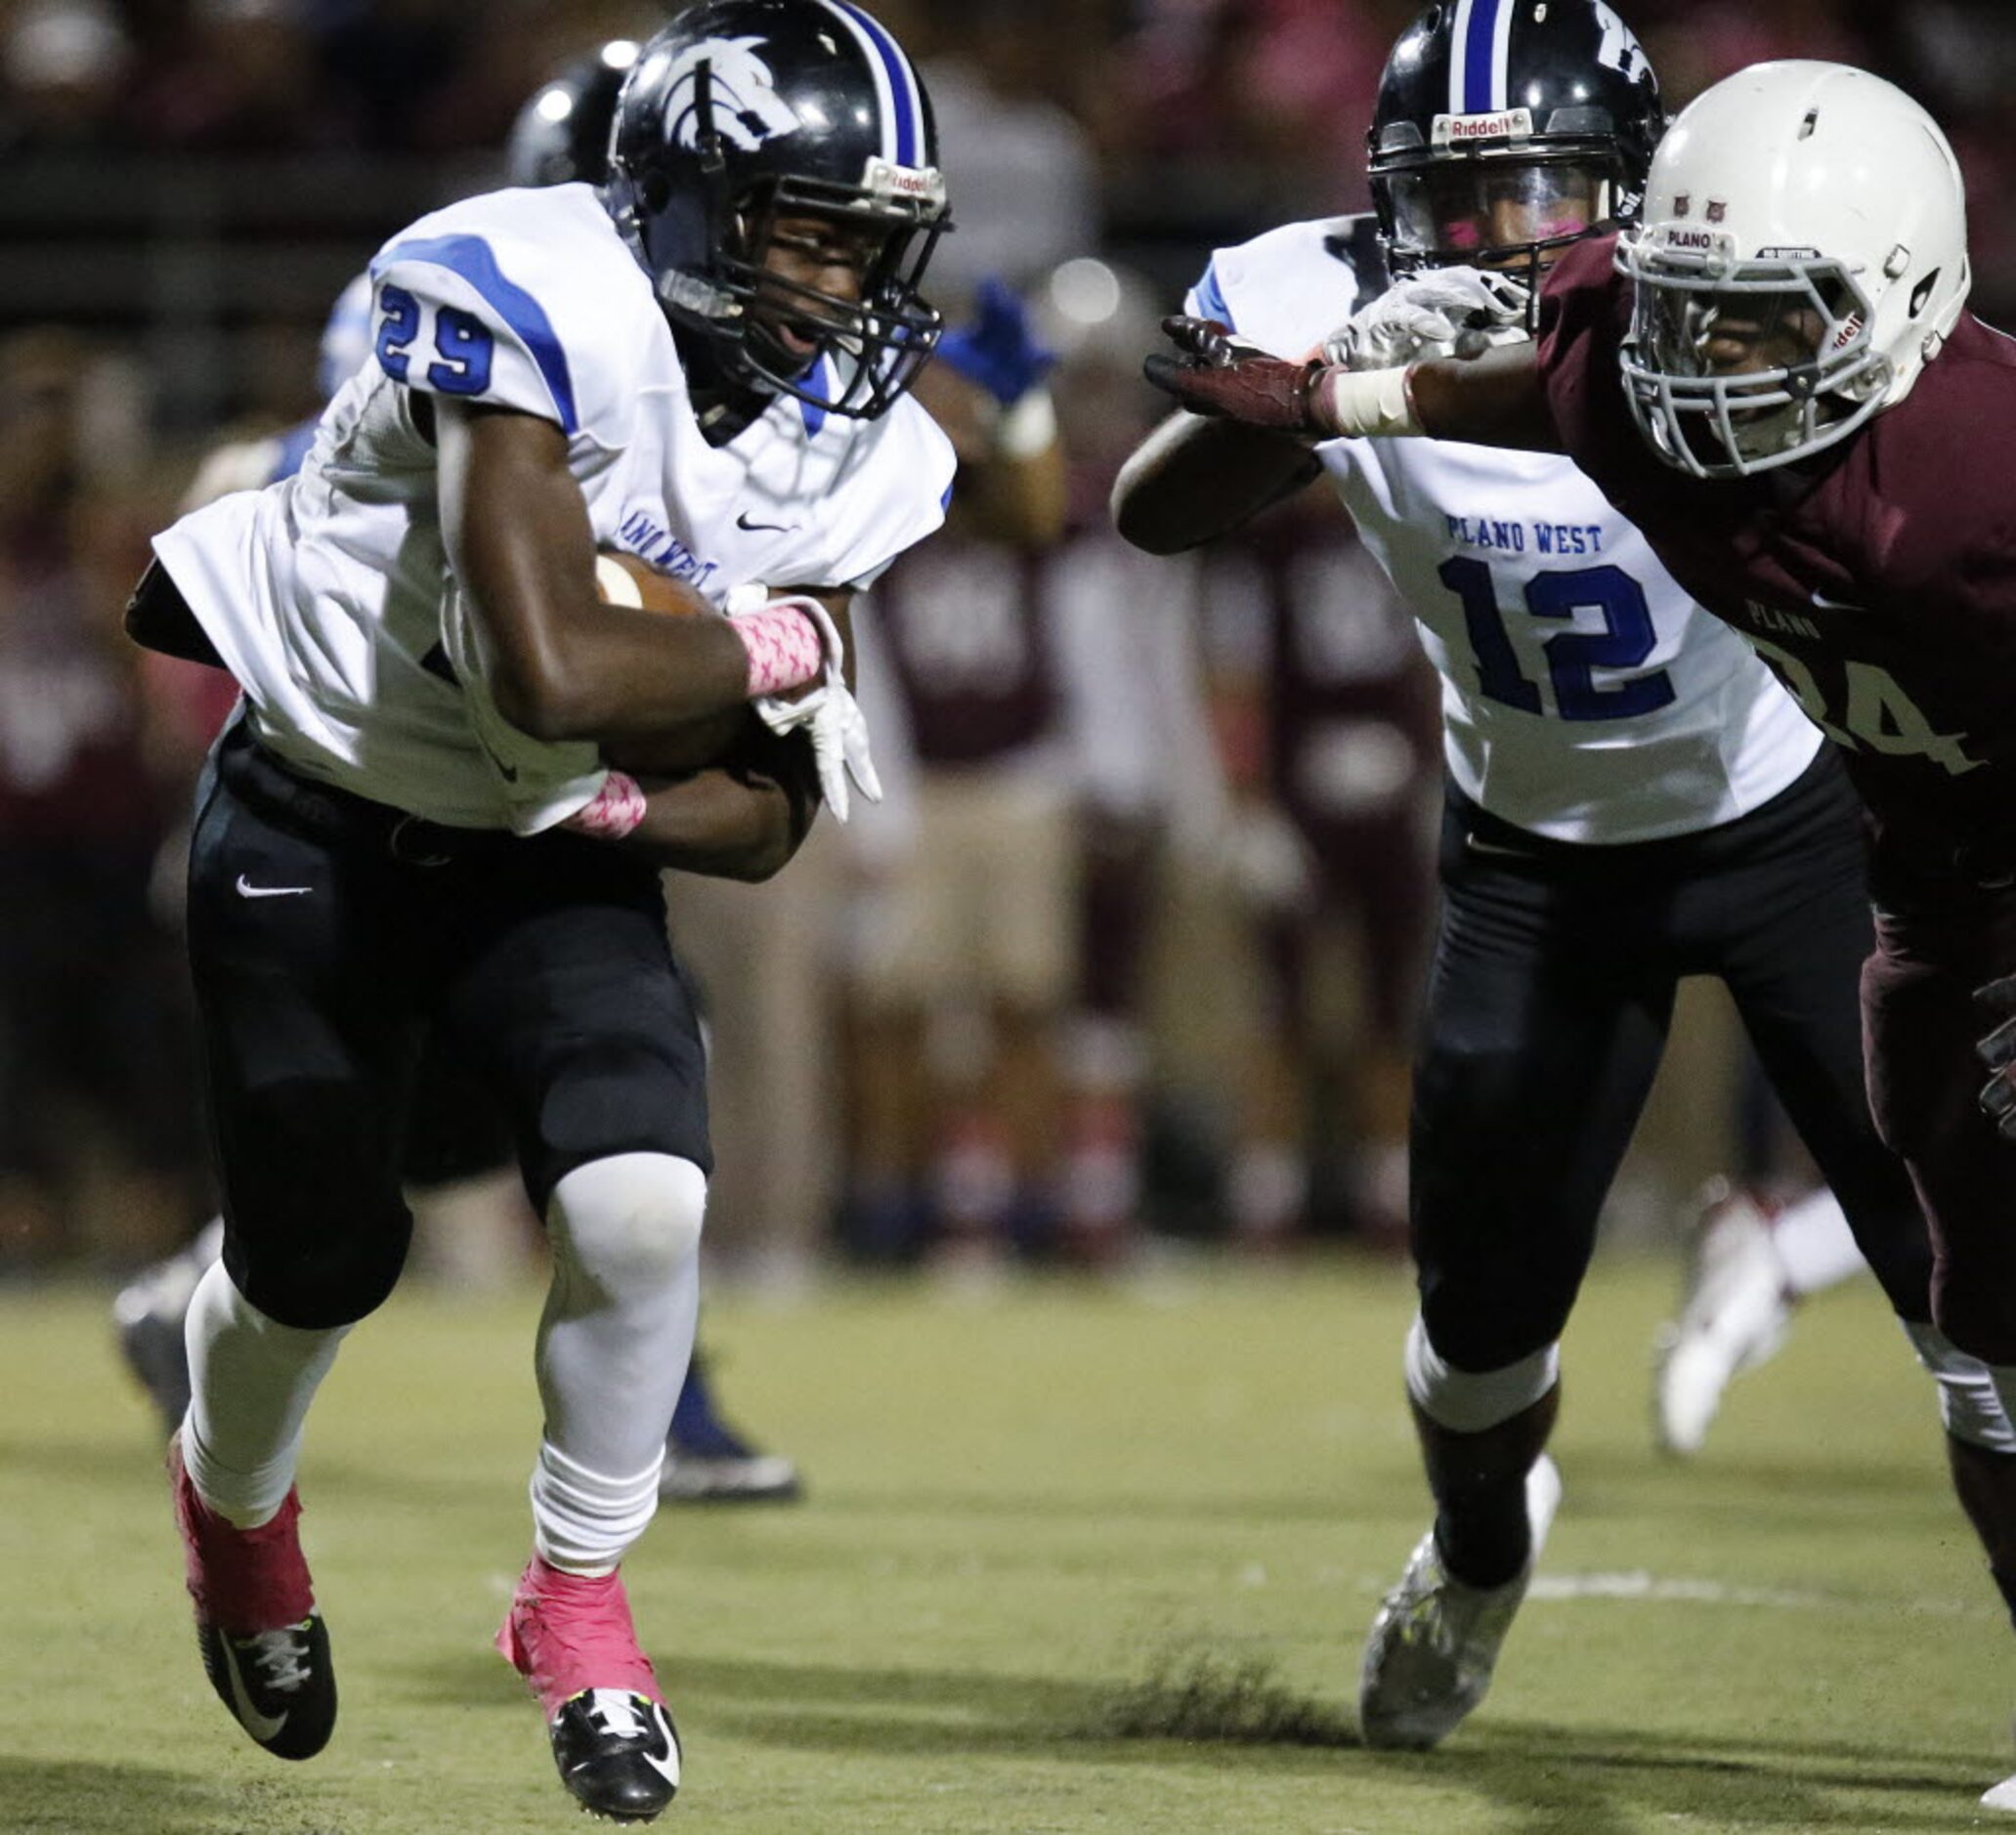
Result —
[{"label": "white and blue shoulder sleeve printed with number 29", "polygon": [[581,432],[552,319],[474,234],[393,242],[371,264],[371,351],[393,381]]}]

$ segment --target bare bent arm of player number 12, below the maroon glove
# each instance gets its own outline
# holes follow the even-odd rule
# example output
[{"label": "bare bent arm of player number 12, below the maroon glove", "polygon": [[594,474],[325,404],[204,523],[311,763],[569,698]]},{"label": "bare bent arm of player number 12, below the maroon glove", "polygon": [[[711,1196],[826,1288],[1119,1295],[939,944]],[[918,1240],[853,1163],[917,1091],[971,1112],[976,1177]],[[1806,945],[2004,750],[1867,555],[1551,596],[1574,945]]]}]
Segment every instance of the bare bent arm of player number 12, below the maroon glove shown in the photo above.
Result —
[{"label": "bare bent arm of player number 12, below the maroon glove", "polygon": [[1238,528],[1322,470],[1308,442],[1272,427],[1175,413],[1113,484],[1113,526],[1149,555],[1179,555]]}]

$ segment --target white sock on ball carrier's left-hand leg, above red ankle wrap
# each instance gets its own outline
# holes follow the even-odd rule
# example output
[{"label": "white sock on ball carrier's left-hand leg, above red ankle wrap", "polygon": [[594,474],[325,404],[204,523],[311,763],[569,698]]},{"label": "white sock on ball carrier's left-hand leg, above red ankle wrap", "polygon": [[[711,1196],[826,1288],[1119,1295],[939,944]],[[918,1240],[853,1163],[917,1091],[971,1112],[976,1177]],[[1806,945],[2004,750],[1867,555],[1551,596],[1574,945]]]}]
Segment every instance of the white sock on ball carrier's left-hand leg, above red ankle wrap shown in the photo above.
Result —
[{"label": "white sock on ball carrier's left-hand leg, above red ankle wrap", "polygon": [[351,1327],[298,1331],[258,1311],[212,1262],[183,1327],[190,1414],[181,1462],[196,1494],[238,1528],[272,1520],[300,1464],[300,1428]]}]

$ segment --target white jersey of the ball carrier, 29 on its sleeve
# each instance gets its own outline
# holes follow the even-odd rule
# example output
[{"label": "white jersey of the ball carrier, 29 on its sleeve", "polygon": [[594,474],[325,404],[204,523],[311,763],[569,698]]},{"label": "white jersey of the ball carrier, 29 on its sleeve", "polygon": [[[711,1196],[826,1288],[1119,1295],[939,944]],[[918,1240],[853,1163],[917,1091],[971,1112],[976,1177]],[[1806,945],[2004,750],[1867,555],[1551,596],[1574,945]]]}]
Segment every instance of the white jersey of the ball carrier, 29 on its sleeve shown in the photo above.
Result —
[{"label": "white jersey of the ball carrier, 29 on its sleeve", "polygon": [[752,581],[865,585],[943,520],[952,444],[909,397],[875,421],[782,397],[712,446],[651,282],[589,186],[452,204],[387,242],[371,280],[371,357],[300,472],[155,538],[260,744],[306,776],[518,833],[605,778],[593,744],[532,738],[496,708],[421,395],[556,423],[597,544],[716,607]]}]

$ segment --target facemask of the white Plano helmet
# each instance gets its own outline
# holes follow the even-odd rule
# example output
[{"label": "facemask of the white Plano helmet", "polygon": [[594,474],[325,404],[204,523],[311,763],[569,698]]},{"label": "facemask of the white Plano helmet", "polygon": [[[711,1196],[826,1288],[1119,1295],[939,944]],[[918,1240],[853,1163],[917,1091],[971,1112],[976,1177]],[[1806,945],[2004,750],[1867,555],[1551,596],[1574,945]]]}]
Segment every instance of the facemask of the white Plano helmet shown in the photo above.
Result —
[{"label": "facemask of the white Plano helmet", "polygon": [[1857,274],[1808,252],[1736,260],[1712,240],[1619,246],[1635,288],[1625,393],[1645,438],[1695,478],[1748,478],[1847,440],[1895,379]]}]

